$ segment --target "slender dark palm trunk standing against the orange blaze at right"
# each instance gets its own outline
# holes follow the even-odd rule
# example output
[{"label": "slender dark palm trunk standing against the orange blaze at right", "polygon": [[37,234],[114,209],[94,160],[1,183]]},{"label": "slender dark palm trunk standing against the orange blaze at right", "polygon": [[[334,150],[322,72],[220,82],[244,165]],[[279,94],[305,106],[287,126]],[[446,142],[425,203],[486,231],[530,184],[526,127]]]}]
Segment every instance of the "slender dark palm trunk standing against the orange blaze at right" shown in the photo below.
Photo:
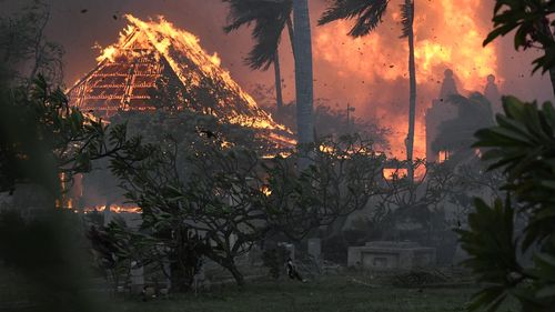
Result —
[{"label": "slender dark palm trunk standing against the orange blaze at right", "polygon": [[406,137],[406,160],[407,173],[411,181],[414,180],[414,128],[416,115],[416,66],[414,62],[414,1],[406,0],[406,6],[410,6],[408,27],[406,37],[408,38],[408,76],[410,76],[410,100],[408,100],[408,134]]}]

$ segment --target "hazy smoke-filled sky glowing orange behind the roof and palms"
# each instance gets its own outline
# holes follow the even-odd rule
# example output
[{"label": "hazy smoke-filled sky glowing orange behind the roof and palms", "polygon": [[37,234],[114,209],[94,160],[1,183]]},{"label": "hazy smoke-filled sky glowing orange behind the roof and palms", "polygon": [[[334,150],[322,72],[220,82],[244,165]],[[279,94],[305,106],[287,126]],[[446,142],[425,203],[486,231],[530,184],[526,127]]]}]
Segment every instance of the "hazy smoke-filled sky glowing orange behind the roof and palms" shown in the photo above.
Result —
[{"label": "hazy smoke-filled sky glowing orange behind the roof and palms", "polygon": [[[26,0],[0,0],[2,11]],[[273,84],[273,71],[251,71],[242,59],[252,46],[250,31],[224,34],[226,4],[221,0],[48,0],[51,4],[49,37],[65,48],[65,82],[72,84],[95,64],[98,50],[115,42],[125,27],[124,13],[141,19],[164,16],[176,27],[196,34],[209,52],[218,52],[222,67],[246,90],[254,83]],[[398,39],[400,0],[391,1],[384,24],[364,39],[346,37],[349,22],[316,28],[325,0],[309,0],[313,23],[315,97],[332,107],[356,107],[357,117],[375,117],[393,128],[397,141],[406,132],[408,84],[406,40]],[[454,3],[458,3],[455,7]],[[512,37],[483,50],[491,28],[493,0],[416,0],[416,49],[418,72],[418,120],[436,97],[445,68],[453,68],[460,90],[483,91],[488,73],[497,76],[504,93],[526,100],[553,98],[547,76],[531,77],[537,52],[513,51]],[[8,10],[6,10],[8,9]],[[85,13],[81,11],[87,9]],[[114,20],[113,16],[118,19]],[[289,37],[282,38],[281,57],[285,100],[293,99],[293,67]],[[422,122],[420,122],[422,123]],[[423,128],[417,133],[423,138]]]}]

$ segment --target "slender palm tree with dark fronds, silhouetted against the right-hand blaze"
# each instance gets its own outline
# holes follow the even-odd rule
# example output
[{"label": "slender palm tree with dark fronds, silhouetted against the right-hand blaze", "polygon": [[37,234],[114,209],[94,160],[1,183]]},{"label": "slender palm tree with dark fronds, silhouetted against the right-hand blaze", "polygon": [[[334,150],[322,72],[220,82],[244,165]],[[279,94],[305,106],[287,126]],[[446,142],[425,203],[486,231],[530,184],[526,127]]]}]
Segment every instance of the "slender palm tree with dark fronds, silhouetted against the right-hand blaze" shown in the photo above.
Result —
[{"label": "slender palm tree with dark fronds, silhouetted against the right-hand blaze", "polygon": [[[372,32],[381,22],[387,9],[389,0],[332,0],[330,8],[319,20],[319,24],[330,23],[336,20],[352,20],[355,23],[350,36],[357,38]],[[414,123],[416,115],[416,70],[414,63],[414,1],[405,0],[401,6],[403,18],[403,32],[401,38],[408,39],[408,74],[410,74],[410,104],[408,104],[408,133],[406,143],[406,160],[408,162],[408,179],[414,179],[413,150],[414,150]]]}]

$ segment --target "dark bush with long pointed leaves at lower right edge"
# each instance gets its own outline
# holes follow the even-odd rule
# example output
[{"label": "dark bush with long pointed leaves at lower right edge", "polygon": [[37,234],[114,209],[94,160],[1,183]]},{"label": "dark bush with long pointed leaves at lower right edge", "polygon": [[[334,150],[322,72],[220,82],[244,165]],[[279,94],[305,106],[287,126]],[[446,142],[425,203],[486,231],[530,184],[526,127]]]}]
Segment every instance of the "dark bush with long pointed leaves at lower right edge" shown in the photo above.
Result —
[{"label": "dark bush with long pointed leaves at lower right edge", "polygon": [[[492,161],[490,170],[500,168],[507,174],[506,200],[493,205],[476,200],[468,229],[458,231],[470,254],[465,265],[487,284],[468,308],[496,311],[513,298],[522,311],[553,311],[555,109],[548,102],[538,109],[536,102],[513,97],[503,98],[503,105],[505,115],[497,115],[497,125],[476,133],[475,147]],[[525,221],[523,230],[517,230],[516,220]]]}]

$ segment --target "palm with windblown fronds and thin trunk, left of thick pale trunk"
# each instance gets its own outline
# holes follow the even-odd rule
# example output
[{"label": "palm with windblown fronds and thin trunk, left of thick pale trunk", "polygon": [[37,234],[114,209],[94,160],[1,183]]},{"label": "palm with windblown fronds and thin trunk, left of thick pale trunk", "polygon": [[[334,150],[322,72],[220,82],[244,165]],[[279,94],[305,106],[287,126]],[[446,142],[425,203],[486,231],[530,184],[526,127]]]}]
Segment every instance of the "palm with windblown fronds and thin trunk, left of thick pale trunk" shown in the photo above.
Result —
[{"label": "palm with windblown fronds and thin trunk, left of thick pale trunk", "polygon": [[[293,23],[291,13],[292,0],[222,0],[230,6],[229,24],[224,31],[230,33],[239,28],[254,23],[252,38],[255,41],[253,49],[245,59],[246,64],[253,70],[268,70],[274,66],[275,99],[278,113],[283,107],[281,85],[281,69],[279,46],[281,34],[285,27],[289,30],[291,47],[293,47]],[[293,49],[294,52],[294,49]]]}]

